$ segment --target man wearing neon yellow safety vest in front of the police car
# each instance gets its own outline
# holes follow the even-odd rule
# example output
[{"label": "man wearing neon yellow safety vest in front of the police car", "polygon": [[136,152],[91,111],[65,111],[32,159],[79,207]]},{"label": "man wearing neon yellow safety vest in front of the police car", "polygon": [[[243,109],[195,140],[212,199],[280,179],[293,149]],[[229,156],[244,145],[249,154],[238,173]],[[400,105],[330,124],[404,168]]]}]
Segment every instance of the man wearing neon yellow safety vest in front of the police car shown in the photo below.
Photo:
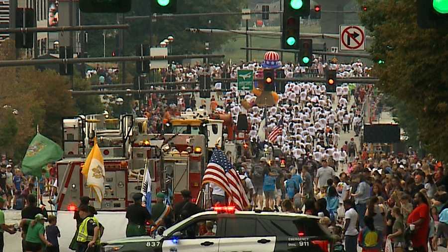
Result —
[{"label": "man wearing neon yellow safety vest in front of the police car", "polygon": [[100,223],[93,213],[89,211],[89,206],[79,207],[79,216],[83,222],[79,226],[76,241],[78,248],[76,252],[99,252],[100,251]]}]

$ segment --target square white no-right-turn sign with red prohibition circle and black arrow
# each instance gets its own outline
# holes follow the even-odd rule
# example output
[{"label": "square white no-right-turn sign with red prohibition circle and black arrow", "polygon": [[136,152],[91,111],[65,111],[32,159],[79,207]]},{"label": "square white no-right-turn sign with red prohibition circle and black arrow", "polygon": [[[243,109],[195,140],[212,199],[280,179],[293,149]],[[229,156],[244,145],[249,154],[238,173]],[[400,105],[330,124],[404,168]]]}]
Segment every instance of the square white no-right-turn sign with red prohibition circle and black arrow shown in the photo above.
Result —
[{"label": "square white no-right-turn sign with red prohibition circle and black arrow", "polygon": [[359,25],[340,25],[339,49],[341,51],[364,51],[365,27]]}]

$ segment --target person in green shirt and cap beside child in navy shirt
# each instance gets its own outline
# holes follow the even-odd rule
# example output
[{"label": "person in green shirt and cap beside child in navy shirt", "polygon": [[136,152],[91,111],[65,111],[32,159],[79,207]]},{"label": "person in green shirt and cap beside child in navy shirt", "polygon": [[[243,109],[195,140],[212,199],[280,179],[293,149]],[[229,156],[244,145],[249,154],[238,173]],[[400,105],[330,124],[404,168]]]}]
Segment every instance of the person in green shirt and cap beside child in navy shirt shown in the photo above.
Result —
[{"label": "person in green shirt and cap beside child in navy shirt", "polygon": [[20,222],[20,227],[26,229],[26,237],[24,244],[24,251],[26,252],[42,252],[42,247],[53,246],[50,242],[45,239],[45,229],[44,222],[47,220],[42,214],[36,214],[31,219],[23,219]]}]

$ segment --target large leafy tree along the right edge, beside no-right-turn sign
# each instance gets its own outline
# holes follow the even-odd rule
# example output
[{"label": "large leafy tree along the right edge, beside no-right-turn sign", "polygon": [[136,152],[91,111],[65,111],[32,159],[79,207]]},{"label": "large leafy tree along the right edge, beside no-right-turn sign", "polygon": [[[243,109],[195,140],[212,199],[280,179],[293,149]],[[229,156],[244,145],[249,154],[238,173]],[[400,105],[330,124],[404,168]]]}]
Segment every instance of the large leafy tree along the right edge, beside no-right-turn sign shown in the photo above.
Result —
[{"label": "large leafy tree along the right edge, beside no-right-turn sign", "polygon": [[[418,140],[448,161],[447,33],[419,28],[415,1],[358,1],[368,9],[360,17],[374,36],[370,53],[376,62],[385,61],[373,70],[384,83],[380,90],[405,105],[400,106],[401,114],[417,124]],[[406,124],[405,120],[400,121]]]}]

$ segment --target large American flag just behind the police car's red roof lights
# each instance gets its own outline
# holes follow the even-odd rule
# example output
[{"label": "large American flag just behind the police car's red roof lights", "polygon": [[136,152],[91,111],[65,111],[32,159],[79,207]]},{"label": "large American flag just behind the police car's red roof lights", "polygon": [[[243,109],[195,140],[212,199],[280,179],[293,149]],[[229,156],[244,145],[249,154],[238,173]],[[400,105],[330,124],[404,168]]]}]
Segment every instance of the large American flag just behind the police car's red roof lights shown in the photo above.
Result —
[{"label": "large American flag just behind the police car's red roof lights", "polygon": [[215,183],[221,187],[228,199],[228,204],[237,210],[244,210],[249,205],[244,187],[238,173],[232,168],[224,152],[215,148],[207,165],[202,184]]}]

